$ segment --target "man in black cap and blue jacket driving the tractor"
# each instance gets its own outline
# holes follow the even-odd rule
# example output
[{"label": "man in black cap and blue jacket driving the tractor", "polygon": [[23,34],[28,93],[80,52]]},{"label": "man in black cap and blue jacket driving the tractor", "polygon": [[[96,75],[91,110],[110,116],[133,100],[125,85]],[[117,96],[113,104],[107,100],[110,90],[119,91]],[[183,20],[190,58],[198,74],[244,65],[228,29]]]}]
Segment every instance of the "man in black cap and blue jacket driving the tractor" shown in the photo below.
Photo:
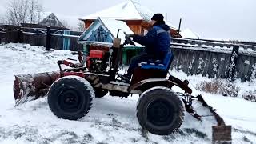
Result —
[{"label": "man in black cap and blue jacket driving the tractor", "polygon": [[122,76],[122,80],[129,82],[134,72],[141,62],[152,60],[163,60],[165,54],[170,52],[170,26],[166,25],[162,14],[154,14],[151,18],[152,28],[145,35],[130,34],[134,42],[146,46],[145,53],[131,58],[127,74]]}]

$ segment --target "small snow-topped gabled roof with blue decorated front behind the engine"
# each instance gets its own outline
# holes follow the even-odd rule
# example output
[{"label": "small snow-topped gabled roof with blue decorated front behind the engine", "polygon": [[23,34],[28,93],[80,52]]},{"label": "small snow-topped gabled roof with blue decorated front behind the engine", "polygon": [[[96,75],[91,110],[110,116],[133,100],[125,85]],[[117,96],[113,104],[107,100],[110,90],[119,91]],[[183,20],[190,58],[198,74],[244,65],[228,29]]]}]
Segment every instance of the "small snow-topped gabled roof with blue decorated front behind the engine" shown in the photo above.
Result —
[{"label": "small snow-topped gabled roof with blue decorated front behind the engine", "polygon": [[[101,27],[99,30],[99,27]],[[121,29],[118,33],[118,29]],[[101,33],[107,34],[105,36],[105,41],[99,42],[97,40],[92,39],[91,36],[93,34],[98,34],[97,32],[100,31]],[[126,25],[126,22],[118,21],[115,19],[108,19],[108,18],[98,18],[96,19],[90,27],[88,27],[78,38],[78,42],[82,43],[102,43],[107,45],[112,45],[113,39],[121,38],[121,42],[123,43],[125,41],[125,34],[123,32],[126,32],[127,34],[134,34],[132,30],[130,30],[130,27]],[[103,35],[104,35],[103,34]],[[97,37],[95,37],[97,39]]]}]

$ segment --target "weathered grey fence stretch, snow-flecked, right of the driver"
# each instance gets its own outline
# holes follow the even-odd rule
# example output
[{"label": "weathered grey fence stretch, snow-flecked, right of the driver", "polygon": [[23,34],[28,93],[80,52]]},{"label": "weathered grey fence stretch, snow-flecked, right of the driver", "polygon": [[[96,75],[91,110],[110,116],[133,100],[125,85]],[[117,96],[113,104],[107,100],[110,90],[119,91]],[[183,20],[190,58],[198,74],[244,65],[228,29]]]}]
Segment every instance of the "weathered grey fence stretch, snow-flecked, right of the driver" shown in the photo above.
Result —
[{"label": "weathered grey fence stretch, snow-flecked, right of the driver", "polygon": [[172,40],[172,70],[182,70],[189,75],[202,74],[207,78],[240,78],[242,81],[256,77],[256,46],[181,38]]}]

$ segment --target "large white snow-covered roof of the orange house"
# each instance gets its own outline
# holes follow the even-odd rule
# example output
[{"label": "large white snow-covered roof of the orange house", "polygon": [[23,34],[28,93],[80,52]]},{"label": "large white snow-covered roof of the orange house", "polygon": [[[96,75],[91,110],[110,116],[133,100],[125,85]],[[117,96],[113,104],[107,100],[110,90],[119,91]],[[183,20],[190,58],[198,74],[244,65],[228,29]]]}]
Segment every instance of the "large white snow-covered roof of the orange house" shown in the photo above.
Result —
[{"label": "large white snow-covered roof of the orange house", "polygon": [[[98,11],[80,19],[97,19],[100,17],[117,20],[144,20],[150,22],[154,14],[155,13],[153,11],[149,10],[145,6],[140,5],[140,3],[134,2],[134,0],[126,0],[126,2],[122,2],[116,6]],[[166,24],[171,28],[177,29],[175,26],[170,24],[170,22],[166,22]]]}]

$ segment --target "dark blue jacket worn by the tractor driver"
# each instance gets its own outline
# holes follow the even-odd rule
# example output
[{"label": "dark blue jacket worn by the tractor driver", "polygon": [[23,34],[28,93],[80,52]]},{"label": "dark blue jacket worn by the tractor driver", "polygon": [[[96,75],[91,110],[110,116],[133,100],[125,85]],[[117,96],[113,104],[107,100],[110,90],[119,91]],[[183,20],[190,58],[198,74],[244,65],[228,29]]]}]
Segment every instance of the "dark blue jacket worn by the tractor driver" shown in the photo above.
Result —
[{"label": "dark blue jacket worn by the tractor driver", "polygon": [[135,34],[134,42],[146,46],[147,54],[161,59],[170,51],[170,27],[166,24],[153,26],[145,36]]}]

